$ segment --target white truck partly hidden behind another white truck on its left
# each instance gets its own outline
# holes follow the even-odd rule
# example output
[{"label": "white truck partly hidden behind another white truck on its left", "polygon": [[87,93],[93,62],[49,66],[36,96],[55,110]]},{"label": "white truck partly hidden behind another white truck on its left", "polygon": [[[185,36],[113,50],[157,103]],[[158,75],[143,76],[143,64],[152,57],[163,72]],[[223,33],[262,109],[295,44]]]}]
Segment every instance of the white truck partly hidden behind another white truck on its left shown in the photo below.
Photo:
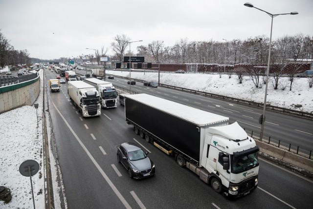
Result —
[{"label": "white truck partly hidden behind another white truck on its left", "polygon": [[112,83],[97,78],[85,78],[84,82],[94,86],[98,90],[102,108],[117,107],[117,93]]}]

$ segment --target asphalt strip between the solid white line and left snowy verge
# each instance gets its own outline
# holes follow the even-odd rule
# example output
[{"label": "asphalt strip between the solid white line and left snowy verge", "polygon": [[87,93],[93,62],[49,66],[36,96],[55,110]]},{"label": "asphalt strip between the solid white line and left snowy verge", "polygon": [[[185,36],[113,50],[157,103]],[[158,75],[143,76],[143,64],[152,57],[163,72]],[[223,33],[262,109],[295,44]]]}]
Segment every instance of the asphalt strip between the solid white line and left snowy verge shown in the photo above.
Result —
[{"label": "asphalt strip between the solid white line and left snowy verge", "polygon": [[54,136],[68,208],[103,208],[106,204],[123,208],[61,116],[53,108],[50,112],[53,129],[59,130],[54,131]]}]

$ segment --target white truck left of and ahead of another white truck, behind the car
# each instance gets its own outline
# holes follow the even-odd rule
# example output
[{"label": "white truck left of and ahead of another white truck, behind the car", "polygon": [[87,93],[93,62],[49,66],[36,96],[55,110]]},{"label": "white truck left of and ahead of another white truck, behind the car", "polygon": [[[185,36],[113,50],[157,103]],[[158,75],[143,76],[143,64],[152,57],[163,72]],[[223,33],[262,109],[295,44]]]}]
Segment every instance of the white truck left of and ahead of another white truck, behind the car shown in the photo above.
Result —
[{"label": "white truck left of and ahead of another white truck, behind the car", "polygon": [[83,117],[101,115],[99,93],[93,86],[83,81],[68,81],[67,91],[72,104]]}]

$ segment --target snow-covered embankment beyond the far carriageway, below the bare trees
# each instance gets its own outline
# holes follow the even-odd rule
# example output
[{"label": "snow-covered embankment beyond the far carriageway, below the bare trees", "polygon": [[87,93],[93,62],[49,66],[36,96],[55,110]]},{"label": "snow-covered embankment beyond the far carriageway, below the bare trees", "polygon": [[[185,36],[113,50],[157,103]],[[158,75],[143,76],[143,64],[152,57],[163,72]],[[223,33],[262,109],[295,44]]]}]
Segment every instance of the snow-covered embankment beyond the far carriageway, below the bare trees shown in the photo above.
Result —
[{"label": "snow-covered embankment beyond the far carriageway, below the bare trees", "polygon": [[[106,73],[129,77],[128,71],[106,70]],[[157,82],[158,73],[132,71],[131,78]],[[262,83],[261,80],[260,78],[260,83]],[[245,76],[243,83],[239,84],[237,75],[232,75],[231,78],[228,78],[228,75],[222,75],[220,78],[219,74],[160,73],[160,83],[264,103],[265,84],[262,88],[256,88],[248,76]],[[281,85],[274,90],[272,82],[269,80],[267,105],[313,113],[313,88],[309,88],[307,78],[295,78],[291,91],[289,91],[289,86],[282,90],[282,84],[290,85],[288,78],[280,78],[279,83]],[[141,83],[136,85],[141,85]],[[296,104],[300,104],[302,107],[294,107]]]}]

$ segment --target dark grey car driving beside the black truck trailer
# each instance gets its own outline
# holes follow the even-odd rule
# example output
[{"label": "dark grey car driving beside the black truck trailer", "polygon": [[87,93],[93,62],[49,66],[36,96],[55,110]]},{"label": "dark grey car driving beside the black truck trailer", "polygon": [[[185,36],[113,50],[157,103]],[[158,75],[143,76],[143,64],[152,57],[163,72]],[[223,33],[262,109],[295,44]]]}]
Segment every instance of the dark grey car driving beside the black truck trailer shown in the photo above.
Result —
[{"label": "dark grey car driving beside the black truck trailer", "polygon": [[122,143],[117,148],[117,162],[122,163],[128,175],[134,179],[152,176],[156,172],[155,164],[148,158],[148,152],[144,152],[134,142]]}]

